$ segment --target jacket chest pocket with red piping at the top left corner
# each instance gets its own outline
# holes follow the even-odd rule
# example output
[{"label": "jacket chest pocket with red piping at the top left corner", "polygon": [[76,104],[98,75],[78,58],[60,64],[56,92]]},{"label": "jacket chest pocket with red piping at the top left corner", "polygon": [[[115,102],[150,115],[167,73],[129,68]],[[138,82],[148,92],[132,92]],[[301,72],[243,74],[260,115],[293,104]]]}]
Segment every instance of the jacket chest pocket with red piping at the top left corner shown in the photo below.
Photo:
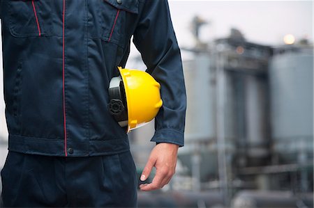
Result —
[{"label": "jacket chest pocket with red piping at the top left corner", "polygon": [[52,2],[7,0],[10,33],[17,38],[57,35],[58,32],[52,25]]}]

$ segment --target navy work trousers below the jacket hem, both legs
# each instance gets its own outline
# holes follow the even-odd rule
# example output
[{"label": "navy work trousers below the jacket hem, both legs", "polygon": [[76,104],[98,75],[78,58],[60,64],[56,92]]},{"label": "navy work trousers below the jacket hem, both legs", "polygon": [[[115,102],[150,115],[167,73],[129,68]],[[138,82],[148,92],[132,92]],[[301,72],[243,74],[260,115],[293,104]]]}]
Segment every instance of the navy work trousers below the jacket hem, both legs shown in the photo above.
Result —
[{"label": "navy work trousers below the jacket hem, both legs", "polygon": [[130,152],[46,157],[9,152],[1,171],[4,207],[136,207]]}]

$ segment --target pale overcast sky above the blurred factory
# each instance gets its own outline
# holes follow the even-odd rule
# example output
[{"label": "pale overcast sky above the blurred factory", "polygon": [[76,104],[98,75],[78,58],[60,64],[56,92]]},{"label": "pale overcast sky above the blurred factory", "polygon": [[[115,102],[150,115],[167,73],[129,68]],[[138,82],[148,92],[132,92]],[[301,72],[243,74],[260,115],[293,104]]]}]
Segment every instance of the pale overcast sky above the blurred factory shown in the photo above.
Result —
[{"label": "pale overcast sky above the blurred factory", "polygon": [[[198,15],[210,22],[203,40],[222,38],[235,27],[247,40],[265,45],[282,44],[283,35],[313,40],[313,1],[171,1],[172,22],[180,45],[193,42],[189,26]],[[192,40],[192,41],[191,41]]]}]

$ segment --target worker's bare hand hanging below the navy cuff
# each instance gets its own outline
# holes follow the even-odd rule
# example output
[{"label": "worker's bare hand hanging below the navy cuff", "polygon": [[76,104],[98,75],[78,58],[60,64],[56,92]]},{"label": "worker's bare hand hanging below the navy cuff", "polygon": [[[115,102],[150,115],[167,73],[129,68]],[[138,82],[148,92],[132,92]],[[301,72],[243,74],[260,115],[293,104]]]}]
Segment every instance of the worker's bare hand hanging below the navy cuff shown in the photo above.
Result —
[{"label": "worker's bare hand hanging below the navy cuff", "polygon": [[176,169],[178,148],[179,145],[159,143],[151,150],[151,155],[140,179],[141,181],[146,180],[153,167],[156,168],[156,175],[151,184],[140,185],[142,191],[161,189],[170,182]]}]

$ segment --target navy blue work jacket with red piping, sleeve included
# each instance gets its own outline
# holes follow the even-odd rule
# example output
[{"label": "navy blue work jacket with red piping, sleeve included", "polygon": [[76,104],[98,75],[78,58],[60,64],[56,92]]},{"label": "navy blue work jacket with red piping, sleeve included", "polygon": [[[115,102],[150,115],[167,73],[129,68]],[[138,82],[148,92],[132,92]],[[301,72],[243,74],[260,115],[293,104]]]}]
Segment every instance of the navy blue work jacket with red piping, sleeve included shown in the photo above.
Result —
[{"label": "navy blue work jacket with red piping, sleeve included", "polygon": [[184,145],[184,75],[166,0],[1,0],[0,13],[9,150],[69,157],[128,150],[107,104],[133,35],[161,84],[152,141]]}]

